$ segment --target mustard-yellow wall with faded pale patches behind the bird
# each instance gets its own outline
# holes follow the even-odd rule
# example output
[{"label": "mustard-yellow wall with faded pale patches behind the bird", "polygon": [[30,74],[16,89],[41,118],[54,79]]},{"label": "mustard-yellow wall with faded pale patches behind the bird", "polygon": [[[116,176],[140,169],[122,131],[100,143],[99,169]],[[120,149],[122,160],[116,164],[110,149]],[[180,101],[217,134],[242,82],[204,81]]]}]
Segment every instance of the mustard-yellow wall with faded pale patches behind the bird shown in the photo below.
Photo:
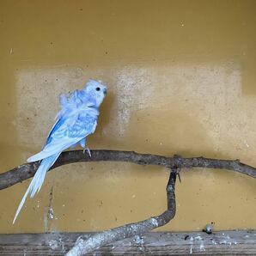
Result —
[{"label": "mustard-yellow wall with faded pale patches behind the bird", "polygon": [[[0,169],[40,150],[58,94],[107,82],[91,149],[240,158],[256,166],[255,1],[0,1]],[[161,230],[256,229],[256,180],[197,169]],[[0,192],[0,232],[109,229],[166,207],[164,168],[72,164],[12,225],[28,182]],[[51,199],[51,189],[53,197]],[[54,218],[47,210],[54,210]]]}]

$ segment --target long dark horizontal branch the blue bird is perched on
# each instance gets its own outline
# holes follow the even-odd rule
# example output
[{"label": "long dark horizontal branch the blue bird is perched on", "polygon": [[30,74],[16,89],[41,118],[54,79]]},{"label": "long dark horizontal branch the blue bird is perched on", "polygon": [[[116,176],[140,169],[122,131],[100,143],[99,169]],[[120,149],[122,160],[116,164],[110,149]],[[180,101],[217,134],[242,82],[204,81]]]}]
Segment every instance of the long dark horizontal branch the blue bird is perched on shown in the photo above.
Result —
[{"label": "long dark horizontal branch the blue bird is perched on", "polygon": [[[165,157],[162,155],[138,154],[132,151],[91,150],[92,156],[83,154],[82,150],[63,152],[53,165],[57,168],[73,162],[133,162],[140,165],[157,165],[165,168],[219,168],[228,169],[256,178],[256,168],[239,162],[239,160],[218,160],[204,157],[183,158],[180,156]],[[34,176],[39,162],[30,162],[0,174],[0,190]]]}]

